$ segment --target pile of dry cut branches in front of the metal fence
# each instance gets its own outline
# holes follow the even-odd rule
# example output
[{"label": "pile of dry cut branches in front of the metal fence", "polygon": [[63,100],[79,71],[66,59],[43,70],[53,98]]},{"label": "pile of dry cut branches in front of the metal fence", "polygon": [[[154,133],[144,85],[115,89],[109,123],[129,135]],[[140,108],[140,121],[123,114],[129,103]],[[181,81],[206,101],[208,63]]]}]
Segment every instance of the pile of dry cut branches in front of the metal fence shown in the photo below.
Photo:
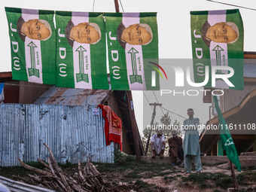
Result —
[{"label": "pile of dry cut branches in front of the metal fence", "polygon": [[[47,163],[43,160],[38,159],[38,161],[45,166],[44,169],[38,169],[33,166],[29,166],[20,160],[20,165],[26,169],[34,172],[34,175],[29,175],[32,180],[37,184],[42,184],[56,191],[119,191],[119,184],[114,184],[108,181],[103,174],[101,174],[92,163],[87,162],[87,164],[82,167],[81,162],[78,163],[78,173],[75,176],[71,176],[58,166],[56,159],[53,156],[50,148],[44,144],[48,151],[50,152],[50,157],[47,157]],[[32,181],[25,180],[24,178],[19,178],[28,184],[32,184]]]}]

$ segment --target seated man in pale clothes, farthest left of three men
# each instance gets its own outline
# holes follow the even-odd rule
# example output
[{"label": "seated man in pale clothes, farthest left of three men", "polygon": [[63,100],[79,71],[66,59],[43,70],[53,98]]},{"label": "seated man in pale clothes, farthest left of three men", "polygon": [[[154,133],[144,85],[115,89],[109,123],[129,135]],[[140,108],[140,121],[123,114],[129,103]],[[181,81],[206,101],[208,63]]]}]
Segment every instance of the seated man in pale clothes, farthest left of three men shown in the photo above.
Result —
[{"label": "seated man in pale clothes, farthest left of three men", "polygon": [[153,153],[152,157],[160,156],[160,158],[163,158],[164,150],[166,148],[166,139],[163,135],[163,130],[158,130],[157,134],[152,136],[150,145]]}]

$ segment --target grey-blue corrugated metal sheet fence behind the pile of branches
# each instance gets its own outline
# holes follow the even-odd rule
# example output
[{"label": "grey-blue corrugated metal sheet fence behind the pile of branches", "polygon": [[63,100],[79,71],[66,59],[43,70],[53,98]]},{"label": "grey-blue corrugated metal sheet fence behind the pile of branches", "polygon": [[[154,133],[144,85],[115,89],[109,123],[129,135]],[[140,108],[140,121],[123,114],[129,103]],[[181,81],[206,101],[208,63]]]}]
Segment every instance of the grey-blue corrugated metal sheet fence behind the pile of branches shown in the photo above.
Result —
[{"label": "grey-blue corrugated metal sheet fence behind the pile of branches", "polygon": [[[100,112],[101,113],[101,112]],[[0,166],[46,160],[114,163],[114,144],[105,146],[104,119],[93,106],[0,104]]]}]

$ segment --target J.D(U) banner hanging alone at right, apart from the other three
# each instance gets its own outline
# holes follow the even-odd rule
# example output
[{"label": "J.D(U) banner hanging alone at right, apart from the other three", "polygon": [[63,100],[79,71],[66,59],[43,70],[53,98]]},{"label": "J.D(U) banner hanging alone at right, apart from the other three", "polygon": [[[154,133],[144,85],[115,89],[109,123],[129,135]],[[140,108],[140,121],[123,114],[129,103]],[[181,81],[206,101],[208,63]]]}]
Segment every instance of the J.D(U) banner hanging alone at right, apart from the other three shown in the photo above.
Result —
[{"label": "J.D(U) banner hanging alone at right, apart from the other three", "polygon": [[[194,81],[243,90],[243,25],[239,10],[191,11]],[[208,81],[209,80],[209,81]]]}]

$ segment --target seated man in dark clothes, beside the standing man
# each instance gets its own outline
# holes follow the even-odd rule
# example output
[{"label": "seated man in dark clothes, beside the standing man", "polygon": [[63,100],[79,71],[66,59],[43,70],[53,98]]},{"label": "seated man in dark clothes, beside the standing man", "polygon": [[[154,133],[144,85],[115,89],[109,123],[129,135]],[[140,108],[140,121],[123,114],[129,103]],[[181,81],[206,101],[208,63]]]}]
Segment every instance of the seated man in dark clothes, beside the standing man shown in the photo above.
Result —
[{"label": "seated man in dark clothes, beside the standing man", "polygon": [[181,164],[184,160],[184,153],[182,149],[182,139],[177,135],[177,130],[172,130],[172,137],[168,139],[169,143],[169,157],[171,157],[171,165]]}]

